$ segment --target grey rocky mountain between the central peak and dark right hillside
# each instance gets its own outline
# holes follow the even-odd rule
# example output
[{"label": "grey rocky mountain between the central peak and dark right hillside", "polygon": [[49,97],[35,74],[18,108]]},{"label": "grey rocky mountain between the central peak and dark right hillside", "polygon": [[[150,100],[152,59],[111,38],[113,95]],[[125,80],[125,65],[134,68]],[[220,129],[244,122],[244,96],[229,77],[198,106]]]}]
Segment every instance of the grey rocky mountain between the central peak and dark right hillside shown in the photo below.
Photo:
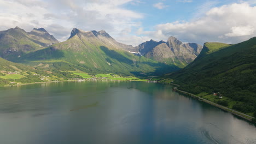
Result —
[{"label": "grey rocky mountain between the central peak and dark right hillside", "polygon": [[136,47],[141,55],[155,61],[185,67],[201,52],[202,46],[195,43],[183,44],[174,37],[165,41],[146,41]]}]

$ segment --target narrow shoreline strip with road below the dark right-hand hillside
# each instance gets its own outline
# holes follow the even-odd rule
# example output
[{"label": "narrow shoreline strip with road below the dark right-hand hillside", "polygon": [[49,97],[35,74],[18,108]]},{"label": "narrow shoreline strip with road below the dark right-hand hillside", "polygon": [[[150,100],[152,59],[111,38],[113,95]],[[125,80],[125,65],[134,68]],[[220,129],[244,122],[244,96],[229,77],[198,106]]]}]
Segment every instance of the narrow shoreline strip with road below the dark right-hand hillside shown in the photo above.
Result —
[{"label": "narrow shoreline strip with road below the dark right-hand hillside", "polygon": [[[177,85],[177,84],[175,84],[175,83],[170,83],[170,84],[173,85],[173,86],[179,87],[179,85]],[[240,118],[246,119],[246,120],[249,121],[249,122],[254,123],[254,122],[252,121],[252,119],[253,119],[254,117],[252,117],[252,116],[249,116],[249,115],[246,115],[245,113],[238,112],[238,111],[229,109],[228,107],[225,107],[225,106],[222,106],[222,105],[213,103],[212,101],[203,99],[203,98],[201,98],[201,97],[198,97],[198,96],[195,95],[195,94],[192,94],[192,93],[189,93],[189,92],[185,92],[185,91],[181,91],[181,90],[179,90],[177,87],[174,88],[174,89],[175,89],[176,92],[178,92],[178,93],[182,93],[182,94],[185,94],[185,95],[189,95],[190,97],[193,97],[193,98],[195,98],[195,99],[197,99],[197,100],[203,101],[203,102],[205,102],[205,103],[207,103],[207,104],[216,106],[216,107],[218,107],[219,109],[222,109],[222,110],[224,110],[224,111],[226,111],[226,112],[230,112],[230,113],[232,113],[232,114],[235,115],[235,116],[238,116],[238,117],[240,117]]]}]

